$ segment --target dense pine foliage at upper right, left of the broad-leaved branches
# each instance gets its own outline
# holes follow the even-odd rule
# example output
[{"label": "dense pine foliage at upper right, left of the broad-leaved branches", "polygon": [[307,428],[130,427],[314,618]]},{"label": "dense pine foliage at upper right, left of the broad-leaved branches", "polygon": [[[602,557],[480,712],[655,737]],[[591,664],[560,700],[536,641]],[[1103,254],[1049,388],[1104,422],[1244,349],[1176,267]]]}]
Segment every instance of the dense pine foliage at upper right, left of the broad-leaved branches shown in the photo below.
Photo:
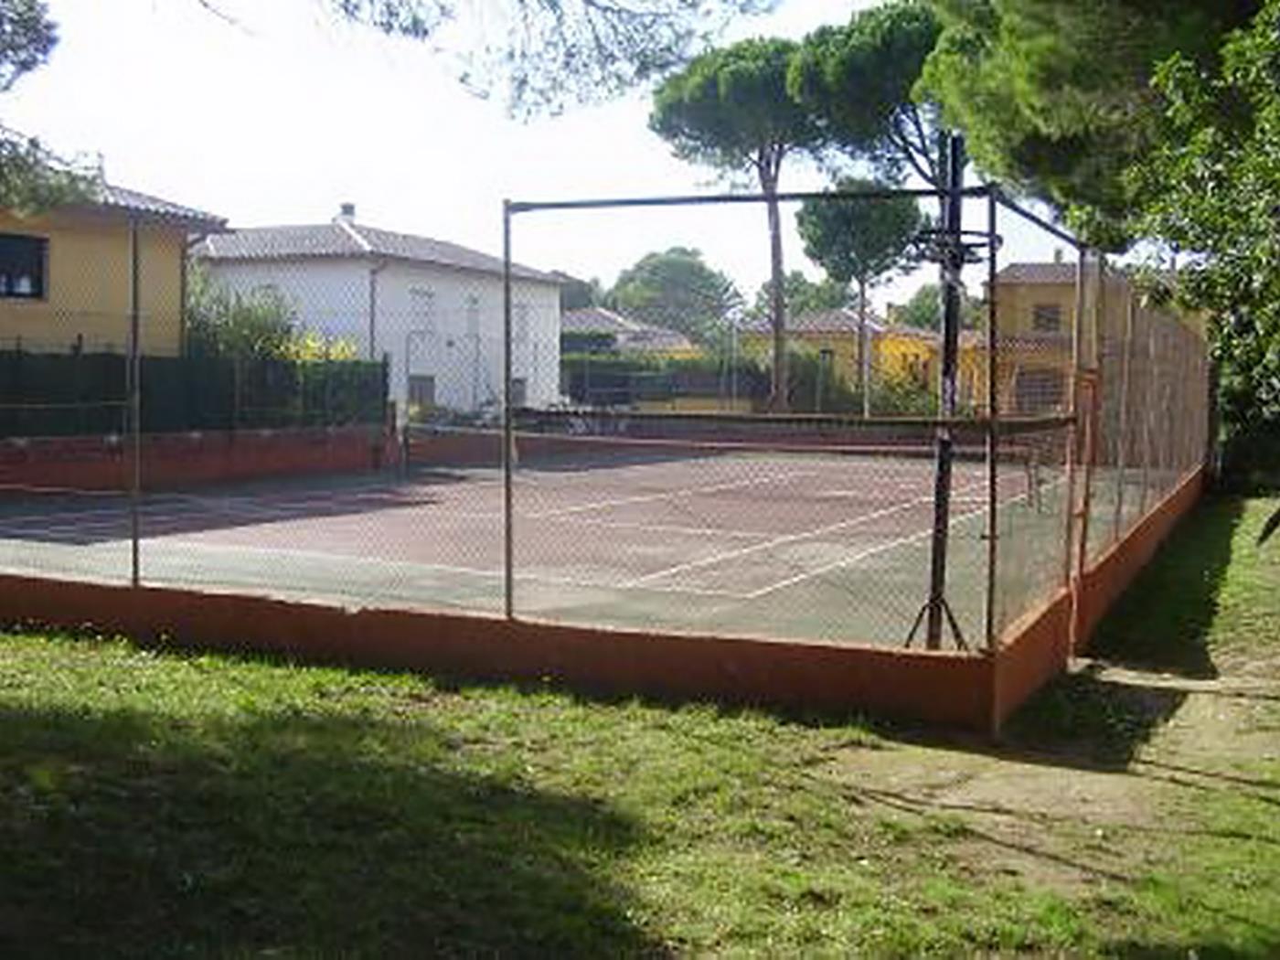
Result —
[{"label": "dense pine foliage at upper right, left of the broad-leaved branches", "polygon": [[1162,140],[1149,81],[1208,68],[1256,0],[933,0],[945,28],[920,92],[989,175],[1069,212],[1091,242],[1134,236],[1126,170]]}]

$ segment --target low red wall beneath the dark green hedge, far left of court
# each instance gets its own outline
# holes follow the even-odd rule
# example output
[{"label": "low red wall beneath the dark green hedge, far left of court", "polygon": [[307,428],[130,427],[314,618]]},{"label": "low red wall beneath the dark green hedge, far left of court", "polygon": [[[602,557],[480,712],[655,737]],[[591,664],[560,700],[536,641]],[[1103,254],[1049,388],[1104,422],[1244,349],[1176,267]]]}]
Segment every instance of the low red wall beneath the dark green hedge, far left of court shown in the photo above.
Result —
[{"label": "low red wall beneath the dark green hedge, far left of court", "polygon": [[[385,457],[376,428],[146,434],[145,489],[247,480],[255,476],[375,470]],[[0,443],[0,484],[125,490],[128,440],[38,438]]]}]

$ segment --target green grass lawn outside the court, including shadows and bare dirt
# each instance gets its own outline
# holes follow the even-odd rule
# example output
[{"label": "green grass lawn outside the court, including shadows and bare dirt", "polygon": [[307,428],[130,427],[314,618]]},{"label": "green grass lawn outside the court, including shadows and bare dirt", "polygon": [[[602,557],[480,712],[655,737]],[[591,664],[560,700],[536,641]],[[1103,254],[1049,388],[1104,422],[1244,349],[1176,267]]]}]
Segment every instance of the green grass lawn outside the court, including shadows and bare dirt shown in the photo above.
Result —
[{"label": "green grass lawn outside the court, including shadows and bare dirt", "polygon": [[1000,748],[0,636],[0,955],[1274,956],[1274,503]]}]

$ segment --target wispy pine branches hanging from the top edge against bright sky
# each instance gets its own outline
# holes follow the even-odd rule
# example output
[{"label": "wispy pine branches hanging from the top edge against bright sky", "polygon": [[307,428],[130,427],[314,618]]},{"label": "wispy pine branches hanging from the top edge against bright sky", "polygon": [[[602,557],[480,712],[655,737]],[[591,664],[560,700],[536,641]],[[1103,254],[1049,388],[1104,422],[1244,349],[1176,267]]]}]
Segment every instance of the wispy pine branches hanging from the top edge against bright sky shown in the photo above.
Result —
[{"label": "wispy pine branches hanging from the top edge against bright sky", "polygon": [[[517,114],[559,113],[668,73],[776,0],[324,0],[339,15],[458,54],[460,78]],[[443,29],[453,27],[452,31]],[[458,38],[461,38],[461,45]]]}]

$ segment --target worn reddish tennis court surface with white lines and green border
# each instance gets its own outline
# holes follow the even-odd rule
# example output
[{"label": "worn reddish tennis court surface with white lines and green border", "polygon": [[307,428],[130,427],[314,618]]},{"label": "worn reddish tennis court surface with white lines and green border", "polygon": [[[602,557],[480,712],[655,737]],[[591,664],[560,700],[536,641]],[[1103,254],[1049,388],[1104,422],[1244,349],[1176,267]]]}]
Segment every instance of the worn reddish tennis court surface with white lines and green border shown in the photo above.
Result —
[{"label": "worn reddish tennis court surface with white lines and green border", "polygon": [[[933,465],[902,456],[652,457],[521,465],[516,609],[577,625],[899,645],[927,595]],[[142,580],[347,607],[498,611],[503,486],[492,467],[161,493]],[[1027,500],[1002,472],[1000,497]],[[951,603],[982,631],[986,474],[959,461]],[[128,579],[127,502],[8,495],[0,567]]]}]

